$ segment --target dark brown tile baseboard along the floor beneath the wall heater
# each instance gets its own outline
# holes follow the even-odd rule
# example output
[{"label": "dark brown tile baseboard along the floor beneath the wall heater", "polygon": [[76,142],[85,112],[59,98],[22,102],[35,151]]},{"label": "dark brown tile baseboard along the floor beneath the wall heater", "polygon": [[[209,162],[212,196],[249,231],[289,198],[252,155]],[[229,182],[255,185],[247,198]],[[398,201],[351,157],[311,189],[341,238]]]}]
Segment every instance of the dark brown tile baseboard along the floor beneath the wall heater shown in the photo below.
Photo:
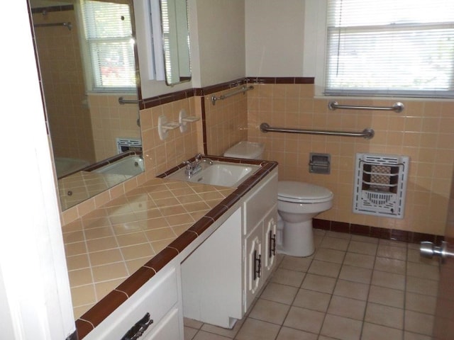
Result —
[{"label": "dark brown tile baseboard along the floor beneath the wall heater", "polygon": [[392,241],[415,244],[421,241],[430,241],[435,244],[440,244],[444,239],[441,235],[425,234],[422,232],[407,232],[399,229],[370,227],[367,225],[355,225],[346,222],[319,220],[318,218],[314,218],[312,226],[316,229],[329,230],[331,232],[343,232],[346,234],[376,237],[378,239],[389,239]]}]

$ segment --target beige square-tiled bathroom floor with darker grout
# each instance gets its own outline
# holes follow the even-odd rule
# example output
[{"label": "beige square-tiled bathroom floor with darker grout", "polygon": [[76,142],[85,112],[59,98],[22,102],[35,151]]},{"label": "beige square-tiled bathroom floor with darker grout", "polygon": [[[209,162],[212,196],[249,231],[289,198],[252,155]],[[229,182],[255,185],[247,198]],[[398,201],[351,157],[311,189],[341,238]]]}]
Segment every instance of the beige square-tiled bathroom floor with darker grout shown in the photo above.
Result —
[{"label": "beige square-tiled bathroom floor with darker grout", "polygon": [[431,339],[438,261],[418,244],[315,231],[316,253],[279,256],[233,329],[184,320],[185,340]]}]

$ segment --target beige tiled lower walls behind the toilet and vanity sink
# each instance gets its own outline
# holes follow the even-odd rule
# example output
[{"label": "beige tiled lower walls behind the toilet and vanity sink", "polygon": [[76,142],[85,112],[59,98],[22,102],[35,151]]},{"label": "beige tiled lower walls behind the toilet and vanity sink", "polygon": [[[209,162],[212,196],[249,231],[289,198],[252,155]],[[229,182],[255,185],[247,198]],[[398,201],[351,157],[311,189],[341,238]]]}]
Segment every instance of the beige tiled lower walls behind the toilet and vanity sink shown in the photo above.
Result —
[{"label": "beige tiled lower walls behind the toilet and vanity sink", "polygon": [[[218,95],[218,94],[216,94]],[[334,206],[320,218],[411,232],[443,234],[454,160],[454,103],[449,101],[404,100],[403,113],[380,111],[328,111],[328,100],[314,98],[314,86],[307,84],[260,84],[243,96],[233,96],[212,106],[206,96],[206,124],[209,154],[222,154],[239,140],[265,143],[265,159],[279,162],[279,178],[309,181],[330,188]],[[389,106],[394,101],[342,101],[348,105]],[[248,123],[244,123],[247,105]],[[172,130],[167,140],[157,135],[157,118],[165,114],[176,121],[179,110],[201,115],[200,97],[168,103],[140,112],[146,173],[126,181],[91,200],[62,213],[75,218],[131,190],[184,159],[202,152],[201,120],[188,132]],[[321,130],[361,131],[373,128],[375,137],[294,135],[260,132],[260,123],[272,126]],[[243,127],[247,126],[247,130]],[[223,130],[225,129],[225,131]],[[247,131],[248,137],[245,137]],[[309,174],[309,153],[331,154],[331,174]],[[404,219],[353,214],[353,167],[356,152],[404,154],[411,158]]]}]

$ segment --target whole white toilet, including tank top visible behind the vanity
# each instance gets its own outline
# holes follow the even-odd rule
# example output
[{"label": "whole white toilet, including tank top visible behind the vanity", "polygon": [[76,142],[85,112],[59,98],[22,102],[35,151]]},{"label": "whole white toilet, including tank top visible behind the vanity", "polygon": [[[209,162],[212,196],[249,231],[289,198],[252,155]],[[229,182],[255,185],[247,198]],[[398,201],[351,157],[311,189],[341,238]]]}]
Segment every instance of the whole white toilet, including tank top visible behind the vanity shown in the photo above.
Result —
[{"label": "whole white toilet, including tank top visible behind the vanity", "polygon": [[[262,143],[239,142],[224,152],[225,157],[261,159]],[[277,252],[291,256],[314,254],[312,218],[331,209],[333,193],[314,184],[279,181],[277,187]]]}]

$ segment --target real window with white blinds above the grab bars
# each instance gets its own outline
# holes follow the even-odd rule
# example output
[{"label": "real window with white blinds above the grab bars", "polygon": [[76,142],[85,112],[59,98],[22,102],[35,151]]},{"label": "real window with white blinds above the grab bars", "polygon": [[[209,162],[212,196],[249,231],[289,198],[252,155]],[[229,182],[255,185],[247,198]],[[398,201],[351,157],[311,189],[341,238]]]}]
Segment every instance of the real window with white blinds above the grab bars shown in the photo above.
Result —
[{"label": "real window with white blinds above the grab bars", "polygon": [[454,1],[328,0],[325,94],[454,97]]}]

